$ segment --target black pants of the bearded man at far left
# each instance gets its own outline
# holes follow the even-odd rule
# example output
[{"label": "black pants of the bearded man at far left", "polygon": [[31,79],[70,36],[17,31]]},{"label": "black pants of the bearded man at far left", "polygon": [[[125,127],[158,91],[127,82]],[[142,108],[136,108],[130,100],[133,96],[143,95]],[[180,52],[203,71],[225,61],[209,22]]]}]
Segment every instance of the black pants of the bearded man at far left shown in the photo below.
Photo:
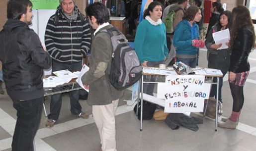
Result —
[{"label": "black pants of the bearded man at far left", "polygon": [[33,141],[39,128],[44,98],[13,101],[17,121],[12,138],[11,151],[34,151]]}]

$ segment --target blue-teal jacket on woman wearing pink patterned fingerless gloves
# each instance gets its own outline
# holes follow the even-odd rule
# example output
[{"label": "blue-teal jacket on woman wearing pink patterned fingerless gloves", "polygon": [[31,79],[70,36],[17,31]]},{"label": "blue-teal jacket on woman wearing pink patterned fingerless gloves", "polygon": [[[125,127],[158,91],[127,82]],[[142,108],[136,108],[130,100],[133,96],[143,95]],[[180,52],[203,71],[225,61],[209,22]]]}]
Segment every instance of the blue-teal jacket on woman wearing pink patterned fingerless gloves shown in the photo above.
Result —
[{"label": "blue-teal jacket on woman wearing pink patterned fingerless gloves", "polygon": [[198,39],[198,25],[196,26],[196,34],[192,38],[191,26],[188,25],[187,20],[183,19],[180,21],[174,32],[173,45],[176,47],[176,55],[185,54],[185,55],[196,55],[197,48],[192,46],[192,40]]}]

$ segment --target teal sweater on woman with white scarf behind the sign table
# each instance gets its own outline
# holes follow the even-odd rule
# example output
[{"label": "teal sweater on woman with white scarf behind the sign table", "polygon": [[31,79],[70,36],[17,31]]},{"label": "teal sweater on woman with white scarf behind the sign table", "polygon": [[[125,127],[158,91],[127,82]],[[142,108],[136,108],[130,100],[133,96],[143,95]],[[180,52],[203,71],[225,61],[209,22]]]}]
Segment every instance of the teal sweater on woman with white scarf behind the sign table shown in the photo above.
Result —
[{"label": "teal sweater on woman with white scarf behind the sign table", "polygon": [[136,31],[134,48],[140,63],[164,60],[169,51],[166,43],[165,24],[155,26],[144,19]]}]

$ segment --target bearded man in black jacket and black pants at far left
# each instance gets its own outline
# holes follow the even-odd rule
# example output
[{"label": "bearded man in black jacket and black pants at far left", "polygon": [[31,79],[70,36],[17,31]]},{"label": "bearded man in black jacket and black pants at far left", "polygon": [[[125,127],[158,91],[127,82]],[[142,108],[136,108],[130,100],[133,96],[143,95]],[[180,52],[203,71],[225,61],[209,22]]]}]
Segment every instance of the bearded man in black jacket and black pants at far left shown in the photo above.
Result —
[{"label": "bearded man in black jacket and black pants at far left", "polygon": [[17,110],[12,151],[34,151],[44,96],[43,69],[52,64],[39,37],[28,27],[33,16],[31,6],[29,0],[9,0],[8,20],[0,31],[3,80]]}]

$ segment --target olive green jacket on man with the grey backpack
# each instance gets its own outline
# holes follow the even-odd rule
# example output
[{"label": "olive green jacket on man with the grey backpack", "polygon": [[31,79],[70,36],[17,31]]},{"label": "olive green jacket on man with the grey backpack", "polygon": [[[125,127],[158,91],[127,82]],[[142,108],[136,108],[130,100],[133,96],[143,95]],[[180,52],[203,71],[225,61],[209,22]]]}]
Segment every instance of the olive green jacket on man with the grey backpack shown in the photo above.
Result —
[{"label": "olive green jacket on man with the grey backpack", "polygon": [[82,77],[83,84],[89,85],[87,103],[90,105],[106,105],[123,95],[123,91],[117,91],[107,77],[111,70],[113,48],[109,35],[100,31],[111,27],[101,28],[92,38],[89,71]]}]

